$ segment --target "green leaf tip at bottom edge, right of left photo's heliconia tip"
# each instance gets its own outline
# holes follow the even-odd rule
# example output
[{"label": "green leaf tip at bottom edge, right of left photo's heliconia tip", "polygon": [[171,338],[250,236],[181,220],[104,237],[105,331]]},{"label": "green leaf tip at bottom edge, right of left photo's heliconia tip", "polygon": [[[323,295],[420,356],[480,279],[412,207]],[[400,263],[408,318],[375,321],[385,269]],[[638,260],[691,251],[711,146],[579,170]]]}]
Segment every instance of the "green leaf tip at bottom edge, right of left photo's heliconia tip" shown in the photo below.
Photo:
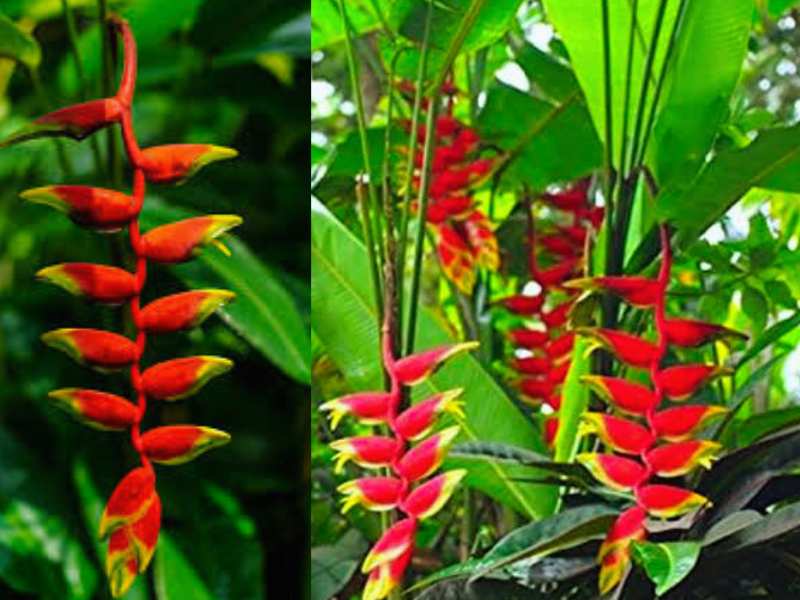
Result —
[{"label": "green leaf tip at bottom edge, right of left photo's heliconia tip", "polygon": [[153,559],[153,580],[158,600],[215,600],[183,550],[164,531]]}]

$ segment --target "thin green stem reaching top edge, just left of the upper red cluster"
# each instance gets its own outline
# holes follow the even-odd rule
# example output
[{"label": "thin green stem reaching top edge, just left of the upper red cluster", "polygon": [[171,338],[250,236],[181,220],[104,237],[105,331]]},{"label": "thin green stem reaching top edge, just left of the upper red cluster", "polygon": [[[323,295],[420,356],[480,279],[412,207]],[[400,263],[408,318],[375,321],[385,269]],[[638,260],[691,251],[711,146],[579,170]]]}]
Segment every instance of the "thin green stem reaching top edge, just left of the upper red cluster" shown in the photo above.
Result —
[{"label": "thin green stem reaching top edge, just left of the upper red cluster", "polygon": [[403,189],[403,214],[400,219],[400,232],[398,235],[397,249],[397,289],[398,289],[398,314],[400,318],[400,336],[402,338],[403,320],[403,292],[405,290],[405,265],[406,265],[406,246],[408,240],[408,222],[411,216],[411,191],[414,183],[414,155],[417,148],[417,136],[419,134],[419,115],[422,108],[423,87],[428,69],[428,38],[431,29],[431,16],[433,14],[433,4],[428,4],[425,16],[425,31],[422,37],[422,51],[417,66],[417,82],[414,90],[414,108],[411,113],[411,132],[408,135],[408,156],[406,157],[406,181]]}]

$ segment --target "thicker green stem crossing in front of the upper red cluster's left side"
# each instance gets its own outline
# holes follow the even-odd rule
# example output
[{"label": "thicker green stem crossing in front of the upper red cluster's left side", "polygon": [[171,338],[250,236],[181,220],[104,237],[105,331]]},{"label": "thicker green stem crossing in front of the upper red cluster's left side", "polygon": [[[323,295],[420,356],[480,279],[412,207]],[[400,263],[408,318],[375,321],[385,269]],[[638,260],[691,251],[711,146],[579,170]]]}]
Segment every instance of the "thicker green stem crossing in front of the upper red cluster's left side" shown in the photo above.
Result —
[{"label": "thicker green stem crossing in front of the upper red cluster's left side", "polygon": [[433,156],[434,139],[436,138],[436,109],[439,103],[440,86],[430,97],[428,115],[425,119],[425,148],[422,152],[422,176],[419,182],[419,209],[417,238],[414,245],[414,266],[411,272],[411,294],[408,307],[408,328],[404,356],[414,351],[414,338],[417,333],[417,312],[419,311],[419,287],[422,277],[422,253],[425,248],[425,216],[428,214],[428,183],[431,174],[431,157]]}]

